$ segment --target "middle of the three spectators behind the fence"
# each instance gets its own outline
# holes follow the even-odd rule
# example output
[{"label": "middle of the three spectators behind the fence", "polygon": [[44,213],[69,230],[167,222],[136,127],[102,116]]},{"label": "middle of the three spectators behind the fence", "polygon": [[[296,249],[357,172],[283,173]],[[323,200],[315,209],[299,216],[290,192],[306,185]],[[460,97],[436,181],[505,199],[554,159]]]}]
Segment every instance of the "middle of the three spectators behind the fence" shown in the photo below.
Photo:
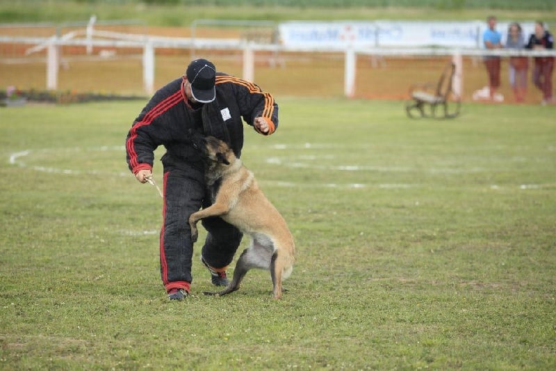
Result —
[{"label": "middle of the three spectators behind the fence", "polygon": [[[508,28],[508,37],[505,47],[507,49],[523,49],[525,47],[525,36],[521,25],[512,23]],[[509,84],[514,90],[516,102],[525,100],[527,92],[527,71],[529,69],[529,58],[526,56],[509,57]]]}]

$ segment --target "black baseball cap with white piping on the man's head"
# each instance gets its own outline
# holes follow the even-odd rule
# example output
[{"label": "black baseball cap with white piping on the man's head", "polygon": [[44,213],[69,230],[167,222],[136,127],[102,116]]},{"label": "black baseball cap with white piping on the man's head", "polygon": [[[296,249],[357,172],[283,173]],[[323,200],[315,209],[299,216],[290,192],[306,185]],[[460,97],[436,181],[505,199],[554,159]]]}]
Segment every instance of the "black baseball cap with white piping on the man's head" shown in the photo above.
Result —
[{"label": "black baseball cap with white piping on the man's head", "polygon": [[215,100],[216,68],[211,61],[195,59],[187,66],[186,76],[191,84],[191,94],[197,102],[210,103]]}]

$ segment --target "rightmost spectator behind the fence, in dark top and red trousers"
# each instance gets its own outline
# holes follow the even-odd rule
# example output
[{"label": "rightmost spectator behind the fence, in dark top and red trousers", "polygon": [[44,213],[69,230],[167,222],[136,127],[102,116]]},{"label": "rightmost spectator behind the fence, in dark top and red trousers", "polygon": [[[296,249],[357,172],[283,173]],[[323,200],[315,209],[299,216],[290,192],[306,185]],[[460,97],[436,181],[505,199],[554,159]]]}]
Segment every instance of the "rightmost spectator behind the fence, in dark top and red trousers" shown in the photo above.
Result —
[{"label": "rightmost spectator behind the fence, in dark top and red trousers", "polygon": [[[537,21],[534,25],[534,33],[529,38],[527,49],[544,50],[553,49],[554,37],[544,29],[544,24]],[[553,56],[534,57],[533,83],[543,93],[541,104],[554,104],[552,91],[552,74],[554,71]]]}]

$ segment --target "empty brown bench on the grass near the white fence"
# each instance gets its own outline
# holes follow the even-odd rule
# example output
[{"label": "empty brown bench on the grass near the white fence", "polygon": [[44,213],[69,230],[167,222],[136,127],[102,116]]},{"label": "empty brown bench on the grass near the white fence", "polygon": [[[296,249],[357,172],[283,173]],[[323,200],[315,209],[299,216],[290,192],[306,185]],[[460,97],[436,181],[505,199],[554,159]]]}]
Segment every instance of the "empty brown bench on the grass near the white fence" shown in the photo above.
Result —
[{"label": "empty brown bench on the grass near the white fence", "polygon": [[[459,115],[461,97],[452,89],[455,74],[455,64],[448,63],[436,84],[413,84],[409,87],[411,99],[405,106],[410,118],[433,117],[455,118]],[[439,110],[438,108],[441,107]],[[416,116],[416,111],[419,116]]]}]

